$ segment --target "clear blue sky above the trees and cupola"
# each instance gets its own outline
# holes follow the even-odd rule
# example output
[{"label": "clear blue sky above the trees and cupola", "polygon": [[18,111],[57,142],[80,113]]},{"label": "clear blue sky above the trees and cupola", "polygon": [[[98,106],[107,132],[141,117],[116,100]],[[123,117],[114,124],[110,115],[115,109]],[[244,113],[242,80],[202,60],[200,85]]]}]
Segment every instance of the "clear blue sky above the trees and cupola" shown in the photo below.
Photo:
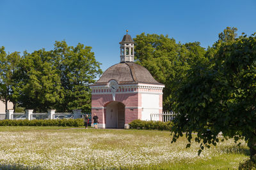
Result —
[{"label": "clear blue sky above the trees and cupola", "polygon": [[132,38],[168,34],[206,48],[227,26],[239,34],[256,32],[256,1],[0,0],[0,46],[7,52],[51,50],[65,39],[70,46],[92,46],[103,71],[120,62],[126,29]]}]

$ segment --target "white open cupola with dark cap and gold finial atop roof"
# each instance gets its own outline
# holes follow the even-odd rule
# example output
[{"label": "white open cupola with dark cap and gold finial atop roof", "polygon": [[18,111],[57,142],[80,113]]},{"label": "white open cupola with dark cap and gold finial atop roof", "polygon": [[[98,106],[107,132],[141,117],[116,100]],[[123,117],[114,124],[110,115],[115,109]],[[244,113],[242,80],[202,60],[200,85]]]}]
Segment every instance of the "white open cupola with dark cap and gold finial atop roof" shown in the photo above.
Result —
[{"label": "white open cupola with dark cap and gold finial atop roof", "polygon": [[134,41],[128,34],[128,30],[120,42],[120,62],[134,62]]}]

